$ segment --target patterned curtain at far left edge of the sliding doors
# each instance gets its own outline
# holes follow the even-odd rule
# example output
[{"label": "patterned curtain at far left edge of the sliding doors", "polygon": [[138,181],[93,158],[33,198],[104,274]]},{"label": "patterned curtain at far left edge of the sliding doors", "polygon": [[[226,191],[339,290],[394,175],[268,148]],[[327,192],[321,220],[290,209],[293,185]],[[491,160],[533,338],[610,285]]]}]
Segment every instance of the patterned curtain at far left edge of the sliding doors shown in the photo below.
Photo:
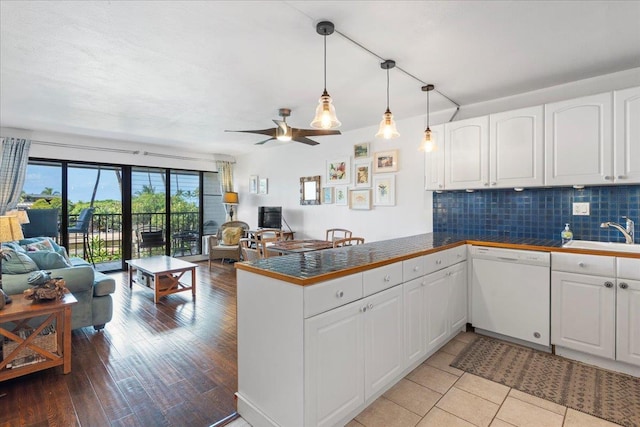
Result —
[{"label": "patterned curtain at far left edge of the sliding doors", "polygon": [[0,215],[15,209],[29,163],[28,139],[3,138],[0,154]]}]

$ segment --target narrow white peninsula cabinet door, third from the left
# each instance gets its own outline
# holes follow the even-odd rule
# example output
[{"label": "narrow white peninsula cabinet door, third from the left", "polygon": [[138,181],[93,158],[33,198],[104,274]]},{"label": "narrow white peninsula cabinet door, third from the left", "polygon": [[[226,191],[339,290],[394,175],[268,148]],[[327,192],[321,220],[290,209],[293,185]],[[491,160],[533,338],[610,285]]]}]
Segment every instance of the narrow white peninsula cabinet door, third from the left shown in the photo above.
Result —
[{"label": "narrow white peninsula cabinet door, third from the left", "polygon": [[425,340],[426,279],[419,277],[403,286],[404,293],[404,348],[406,365],[420,360],[427,353]]}]

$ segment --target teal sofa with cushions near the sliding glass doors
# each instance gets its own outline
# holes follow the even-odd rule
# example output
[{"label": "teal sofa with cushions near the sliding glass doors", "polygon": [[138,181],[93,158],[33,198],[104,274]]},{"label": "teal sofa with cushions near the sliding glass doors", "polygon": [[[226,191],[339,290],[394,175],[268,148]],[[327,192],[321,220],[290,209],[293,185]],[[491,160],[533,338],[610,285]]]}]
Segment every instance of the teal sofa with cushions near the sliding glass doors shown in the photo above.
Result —
[{"label": "teal sofa with cushions near the sliding glass doors", "polygon": [[[50,254],[40,253],[36,257],[33,252],[45,252],[45,251],[30,251],[25,249],[25,246],[33,244],[34,242],[40,242],[47,238],[32,238],[20,240],[17,242],[11,242],[9,244],[4,243],[3,249],[10,249],[9,254],[12,255],[13,262],[18,262],[18,256],[16,252],[20,252],[22,255],[19,257],[26,260],[24,255],[31,255],[39,264],[35,270],[46,270],[51,272],[51,277],[61,277],[65,280],[67,289],[78,300],[71,309],[71,329],[83,328],[86,326],[93,326],[96,330],[101,330],[105,327],[107,322],[111,321],[113,316],[113,298],[111,294],[115,292],[116,284],[115,280],[111,277],[95,271],[91,264],[81,258],[68,258],[66,256],[66,250],[63,247],[55,245],[55,242],[49,240],[52,244],[52,248],[56,253],[64,254],[65,262],[59,258],[54,263],[47,265],[43,263],[43,258],[52,258]],[[12,260],[9,260],[10,262]],[[13,268],[10,265],[5,265],[7,261],[3,262],[2,269],[2,288],[9,295],[22,294],[25,289],[29,288],[27,284],[27,278],[33,272],[33,266],[27,265],[23,268]],[[25,262],[24,264],[27,264]],[[66,264],[66,266],[64,265]],[[46,268],[47,266],[54,266],[57,268]],[[26,271],[32,270],[32,271]],[[18,272],[16,271],[24,271]],[[21,295],[16,295],[13,298],[22,298]]]}]

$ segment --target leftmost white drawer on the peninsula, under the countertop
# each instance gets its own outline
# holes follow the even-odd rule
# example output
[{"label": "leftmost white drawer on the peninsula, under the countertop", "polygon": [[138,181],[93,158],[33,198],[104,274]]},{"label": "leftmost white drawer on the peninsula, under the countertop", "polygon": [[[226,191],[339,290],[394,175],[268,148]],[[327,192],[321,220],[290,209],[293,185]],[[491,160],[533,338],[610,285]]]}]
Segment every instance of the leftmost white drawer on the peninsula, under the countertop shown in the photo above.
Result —
[{"label": "leftmost white drawer on the peninsula, under the countertop", "polygon": [[305,319],[362,298],[362,273],[304,287]]}]

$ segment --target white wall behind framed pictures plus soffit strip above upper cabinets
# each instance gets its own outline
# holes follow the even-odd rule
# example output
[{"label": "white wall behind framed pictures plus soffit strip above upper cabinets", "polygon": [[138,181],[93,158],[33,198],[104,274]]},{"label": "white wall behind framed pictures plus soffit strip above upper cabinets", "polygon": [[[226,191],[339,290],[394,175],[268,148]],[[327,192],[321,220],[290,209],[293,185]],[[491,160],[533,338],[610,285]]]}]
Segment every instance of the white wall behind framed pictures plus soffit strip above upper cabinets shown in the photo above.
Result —
[{"label": "white wall behind framed pictures plus soffit strip above upper cabinets", "polygon": [[[456,120],[638,85],[640,68],[462,106]],[[339,115],[340,106],[336,105],[336,109]],[[431,123],[449,121],[454,111],[451,109],[432,114]],[[343,123],[349,120],[348,117],[339,117]],[[372,121],[379,119],[372,118]],[[355,235],[364,237],[366,241],[432,231],[432,193],[424,190],[424,155],[418,151],[424,131],[424,117],[398,120],[397,125],[401,136],[390,141],[374,138],[376,125],[345,132],[340,136],[317,138],[320,145],[314,147],[295,142],[270,142],[255,153],[238,156],[234,170],[235,186],[240,193],[238,218],[256,227],[258,206],[282,206],[286,221],[296,231],[296,238],[323,238],[324,230],[332,227],[353,230]],[[353,145],[361,142],[370,142],[372,152],[400,150],[400,167],[396,173],[396,206],[374,206],[370,211],[350,210],[346,206],[336,205],[301,206],[300,177],[321,175],[324,186],[325,162],[340,156],[351,156],[353,159]],[[250,175],[269,179],[268,195],[249,194]],[[351,180],[353,182],[353,177]]]}]

